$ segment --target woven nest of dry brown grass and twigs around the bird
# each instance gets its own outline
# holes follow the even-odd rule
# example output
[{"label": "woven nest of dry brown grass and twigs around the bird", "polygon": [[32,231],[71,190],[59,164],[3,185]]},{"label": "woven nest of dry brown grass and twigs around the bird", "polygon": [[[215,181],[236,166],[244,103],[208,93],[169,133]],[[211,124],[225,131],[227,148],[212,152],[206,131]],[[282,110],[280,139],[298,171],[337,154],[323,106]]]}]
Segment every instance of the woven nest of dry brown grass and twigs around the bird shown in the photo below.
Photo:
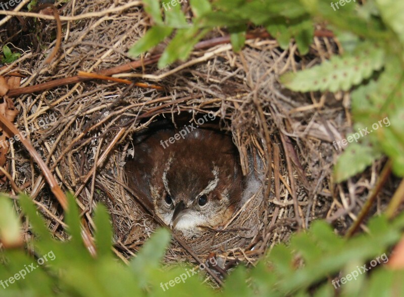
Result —
[{"label": "woven nest of dry brown grass and twigs around the bird", "polygon": [[[122,259],[134,255],[159,224],[125,183],[131,135],[167,114],[214,112],[222,128],[231,131],[243,174],[250,177],[246,202],[220,230],[191,238],[176,234],[166,262],[194,262],[195,256],[215,253],[227,269],[238,261],[254,262],[314,219],[327,218],[337,229],[346,229],[351,221],[345,215],[358,212],[358,205],[347,203],[352,202],[351,192],[334,188],[331,175],[336,156],[332,141],[342,139],[350,127],[346,96],[296,94],[278,82],[287,71],[329,58],[338,50],[335,40],[315,37],[305,57],[310,60],[301,60],[293,43],[283,51],[271,38],[249,38],[244,49],[234,53],[226,33],[215,31],[196,45],[186,62],[157,69],[158,47],[127,66],[133,62],[128,48],[149,22],[139,2],[119,9],[122,6],[112,0],[67,2],[59,14],[77,17],[62,20],[63,40],[53,62],[43,63],[55,44],[49,36],[55,35],[56,24],[41,20],[35,25],[42,32],[37,48],[26,48],[0,73],[20,73],[25,77],[22,86],[59,79],[46,90],[14,97],[11,93],[19,111],[15,123],[29,132],[28,140],[63,189],[76,194],[88,228],[95,203],[103,202],[112,216],[115,253]],[[61,83],[78,71],[118,73],[115,76],[164,89],[77,77]],[[64,238],[63,211],[21,143],[11,144],[10,157],[16,185],[36,201],[55,235]],[[363,192],[375,182],[371,176],[379,167],[375,164],[363,177],[369,181]]]}]

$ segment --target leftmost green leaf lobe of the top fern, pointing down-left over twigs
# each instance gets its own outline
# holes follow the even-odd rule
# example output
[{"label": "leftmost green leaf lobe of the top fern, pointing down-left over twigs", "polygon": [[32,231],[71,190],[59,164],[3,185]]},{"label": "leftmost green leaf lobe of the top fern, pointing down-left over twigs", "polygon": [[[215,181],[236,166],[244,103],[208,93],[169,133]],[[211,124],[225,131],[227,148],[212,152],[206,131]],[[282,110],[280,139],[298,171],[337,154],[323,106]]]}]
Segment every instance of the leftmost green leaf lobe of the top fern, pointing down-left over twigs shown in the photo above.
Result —
[{"label": "leftmost green leaf lobe of the top fern, pointing down-left over twigs", "polygon": [[172,28],[165,26],[155,26],[149,29],[146,34],[129,49],[128,54],[132,57],[139,56],[163,41],[172,31]]}]

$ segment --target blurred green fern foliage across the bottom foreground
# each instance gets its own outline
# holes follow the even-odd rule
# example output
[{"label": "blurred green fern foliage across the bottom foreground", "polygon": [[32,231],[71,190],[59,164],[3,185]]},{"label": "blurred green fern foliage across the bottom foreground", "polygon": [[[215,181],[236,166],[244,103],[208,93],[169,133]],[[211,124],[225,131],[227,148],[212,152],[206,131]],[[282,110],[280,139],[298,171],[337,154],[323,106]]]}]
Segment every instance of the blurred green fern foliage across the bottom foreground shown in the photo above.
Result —
[{"label": "blurred green fern foliage across the bottom foreground", "polygon": [[[0,216],[7,215],[11,199],[1,195],[0,204],[9,205],[0,209]],[[167,229],[157,230],[125,265],[111,251],[112,229],[104,206],[98,205],[94,211],[94,259],[81,240],[80,216],[71,195],[65,219],[68,241],[51,236],[29,197],[21,195],[19,205],[33,238],[24,248],[0,252],[0,296],[332,296],[337,286],[331,280],[339,271],[346,275],[364,264],[370,267],[367,261],[386,253],[404,228],[404,215],[393,222],[377,217],[369,223],[369,234],[343,239],[327,223],[317,221],[307,232],[294,234],[289,245],[276,245],[255,267],[239,265],[227,277],[223,289],[215,290],[203,283],[203,272],[188,274],[182,281],[179,277],[190,267],[171,265],[163,269],[161,259],[171,240]],[[10,226],[0,225],[0,234],[7,228],[15,231],[16,222],[20,224],[13,216]],[[41,261],[46,255],[46,261]],[[388,258],[382,259],[382,265],[372,273],[341,285],[340,296],[378,297],[380,292],[392,295],[393,291],[397,296],[404,295],[404,271],[386,269],[383,263]],[[17,279],[16,274],[24,274],[24,278]],[[11,277],[17,280],[10,283]]]}]

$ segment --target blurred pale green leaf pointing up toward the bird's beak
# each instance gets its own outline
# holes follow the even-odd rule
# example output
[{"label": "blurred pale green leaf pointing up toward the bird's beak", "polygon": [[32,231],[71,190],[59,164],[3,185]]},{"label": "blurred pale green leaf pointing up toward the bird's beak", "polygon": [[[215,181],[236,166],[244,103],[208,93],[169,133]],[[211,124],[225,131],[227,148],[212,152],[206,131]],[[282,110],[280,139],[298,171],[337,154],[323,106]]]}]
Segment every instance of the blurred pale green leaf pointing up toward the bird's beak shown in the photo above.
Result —
[{"label": "blurred pale green leaf pointing up toward the bird's beak", "polygon": [[143,245],[137,257],[131,261],[130,267],[136,274],[140,286],[146,285],[151,275],[156,273],[160,267],[160,261],[164,257],[170,240],[171,233],[169,230],[164,228],[157,230]]}]

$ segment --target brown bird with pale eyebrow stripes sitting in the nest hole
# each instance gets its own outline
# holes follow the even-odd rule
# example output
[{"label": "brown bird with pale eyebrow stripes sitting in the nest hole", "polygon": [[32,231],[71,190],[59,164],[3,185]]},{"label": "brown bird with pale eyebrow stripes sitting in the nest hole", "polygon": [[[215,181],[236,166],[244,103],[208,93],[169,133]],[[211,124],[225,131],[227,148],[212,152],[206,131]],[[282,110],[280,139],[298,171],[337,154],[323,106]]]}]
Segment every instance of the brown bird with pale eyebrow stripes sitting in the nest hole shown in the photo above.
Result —
[{"label": "brown bird with pale eyebrow stripes sitting in the nest hole", "polygon": [[163,121],[133,135],[127,185],[165,224],[198,234],[228,221],[245,186],[237,147],[216,123]]}]

